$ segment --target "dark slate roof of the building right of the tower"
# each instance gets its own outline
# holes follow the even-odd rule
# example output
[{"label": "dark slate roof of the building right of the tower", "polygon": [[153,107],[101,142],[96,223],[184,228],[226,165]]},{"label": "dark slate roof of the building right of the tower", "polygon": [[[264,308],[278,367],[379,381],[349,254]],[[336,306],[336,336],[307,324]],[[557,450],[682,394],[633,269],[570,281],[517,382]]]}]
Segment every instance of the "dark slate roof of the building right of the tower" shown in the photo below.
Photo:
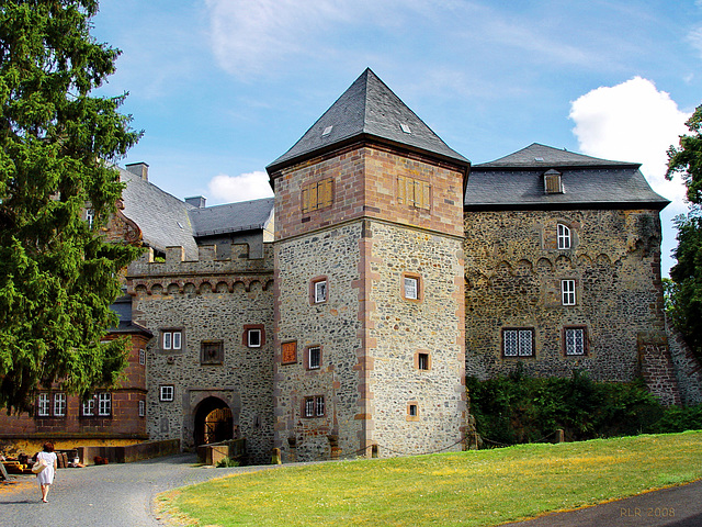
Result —
[{"label": "dark slate roof of the building right of the tower", "polygon": [[[495,161],[474,165],[465,190],[471,210],[646,206],[669,201],[652,190],[636,162],[612,161],[532,144]],[[563,193],[546,193],[543,175],[562,173]]]}]

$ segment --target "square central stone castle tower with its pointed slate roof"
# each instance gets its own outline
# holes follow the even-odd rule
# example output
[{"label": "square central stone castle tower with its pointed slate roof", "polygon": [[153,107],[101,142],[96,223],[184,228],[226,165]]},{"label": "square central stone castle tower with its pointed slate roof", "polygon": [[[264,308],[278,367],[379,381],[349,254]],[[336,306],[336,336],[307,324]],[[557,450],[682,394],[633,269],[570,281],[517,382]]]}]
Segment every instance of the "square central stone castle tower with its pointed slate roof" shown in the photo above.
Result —
[{"label": "square central stone castle tower with its pointed slate roof", "polygon": [[468,167],[366,69],[267,168],[285,459],[462,449]]}]

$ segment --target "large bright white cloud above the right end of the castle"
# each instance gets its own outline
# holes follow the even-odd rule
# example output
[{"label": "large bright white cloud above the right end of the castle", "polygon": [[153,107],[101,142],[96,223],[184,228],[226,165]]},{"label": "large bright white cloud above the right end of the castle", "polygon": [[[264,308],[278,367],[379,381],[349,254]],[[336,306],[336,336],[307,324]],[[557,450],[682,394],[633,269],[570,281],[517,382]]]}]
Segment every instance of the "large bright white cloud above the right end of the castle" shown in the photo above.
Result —
[{"label": "large bright white cloud above the right end of the castle", "polygon": [[601,87],[571,102],[570,119],[584,154],[621,161],[641,162],[653,189],[671,200],[661,213],[664,274],[675,261],[676,232],[672,217],[687,212],[684,184],[680,177],[665,179],[670,145],[687,133],[689,114],[680,111],[665,91],[647,79],[635,77],[613,87]]}]

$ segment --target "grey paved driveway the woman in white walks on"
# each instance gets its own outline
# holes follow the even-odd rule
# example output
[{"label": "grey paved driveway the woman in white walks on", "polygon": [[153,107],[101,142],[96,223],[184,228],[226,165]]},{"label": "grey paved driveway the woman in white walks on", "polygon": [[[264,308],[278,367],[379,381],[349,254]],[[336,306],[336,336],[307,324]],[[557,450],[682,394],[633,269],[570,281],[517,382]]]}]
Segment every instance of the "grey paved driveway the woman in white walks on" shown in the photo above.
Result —
[{"label": "grey paved driveway the woman in white walks on", "polygon": [[137,463],[59,469],[42,503],[33,475],[21,475],[18,490],[0,492],[2,527],[158,527],[156,494],[236,472],[271,467],[214,469],[195,467],[193,455]]}]

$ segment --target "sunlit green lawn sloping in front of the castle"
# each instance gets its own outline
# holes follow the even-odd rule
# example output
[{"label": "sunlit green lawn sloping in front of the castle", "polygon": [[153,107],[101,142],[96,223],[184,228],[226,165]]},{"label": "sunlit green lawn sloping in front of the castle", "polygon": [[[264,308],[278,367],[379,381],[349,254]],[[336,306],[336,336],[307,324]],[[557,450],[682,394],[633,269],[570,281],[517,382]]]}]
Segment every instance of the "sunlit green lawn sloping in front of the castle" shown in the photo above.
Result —
[{"label": "sunlit green lawn sloping in front of the castle", "polygon": [[701,478],[702,431],[688,431],[290,466],[159,502],[200,526],[490,526]]}]

